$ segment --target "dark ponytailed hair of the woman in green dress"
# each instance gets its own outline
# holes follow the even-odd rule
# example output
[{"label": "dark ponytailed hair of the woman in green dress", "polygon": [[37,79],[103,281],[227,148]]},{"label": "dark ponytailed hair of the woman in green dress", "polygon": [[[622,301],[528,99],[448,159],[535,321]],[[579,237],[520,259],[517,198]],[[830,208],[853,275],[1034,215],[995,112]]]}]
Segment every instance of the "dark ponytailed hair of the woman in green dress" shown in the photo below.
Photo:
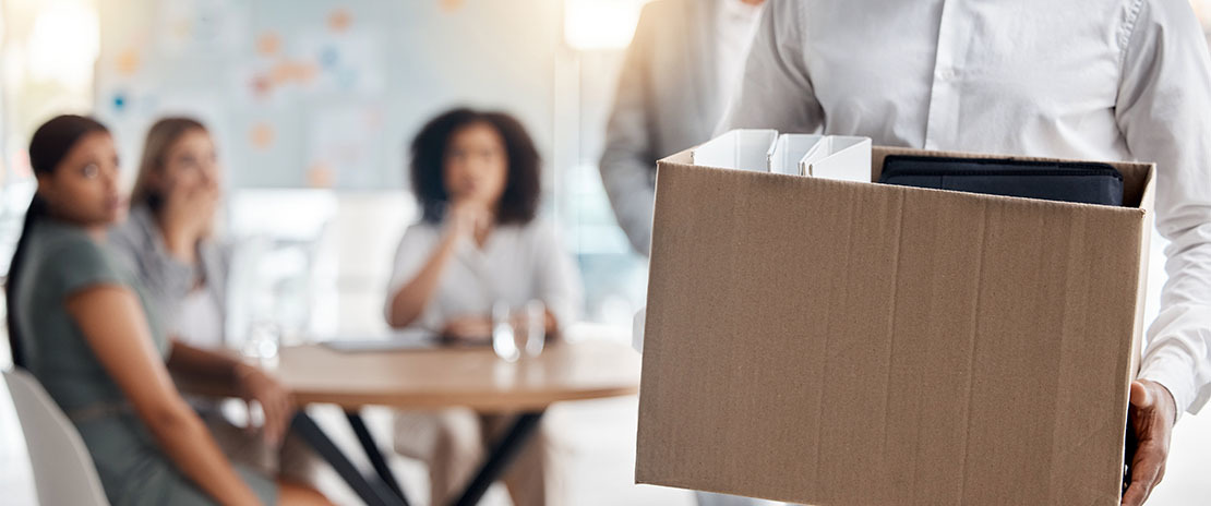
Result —
[{"label": "dark ponytailed hair of the woman in green dress", "polygon": [[[94,132],[109,132],[104,125],[91,117],[63,115],[56,116],[42,123],[29,139],[29,166],[34,169],[34,176],[51,174],[63,161],[63,157],[71,151],[80,139]],[[5,286],[5,304],[8,310],[8,345],[12,350],[12,363],[18,367],[25,366],[25,357],[21,347],[21,326],[17,322],[17,294],[12,287],[17,286],[21,269],[25,260],[25,242],[30,226],[48,212],[46,201],[34,195],[25,211],[25,220],[21,229],[21,238],[17,240],[17,249],[12,253],[12,263],[8,264],[8,280]]]}]

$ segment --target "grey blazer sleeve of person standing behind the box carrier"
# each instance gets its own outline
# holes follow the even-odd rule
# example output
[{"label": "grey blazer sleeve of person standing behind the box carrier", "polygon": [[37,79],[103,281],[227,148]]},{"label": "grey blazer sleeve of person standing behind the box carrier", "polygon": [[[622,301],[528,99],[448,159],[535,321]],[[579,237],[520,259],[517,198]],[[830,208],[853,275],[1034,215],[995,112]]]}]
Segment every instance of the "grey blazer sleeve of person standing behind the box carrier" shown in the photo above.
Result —
[{"label": "grey blazer sleeve of person standing behind the box carrier", "polygon": [[599,171],[606,195],[619,226],[631,246],[647,255],[652,245],[652,211],[655,201],[655,160],[652,146],[649,86],[650,30],[655,28],[652,7],[645,6],[626,51],[619,74],[614,109],[606,126],[606,150]]}]

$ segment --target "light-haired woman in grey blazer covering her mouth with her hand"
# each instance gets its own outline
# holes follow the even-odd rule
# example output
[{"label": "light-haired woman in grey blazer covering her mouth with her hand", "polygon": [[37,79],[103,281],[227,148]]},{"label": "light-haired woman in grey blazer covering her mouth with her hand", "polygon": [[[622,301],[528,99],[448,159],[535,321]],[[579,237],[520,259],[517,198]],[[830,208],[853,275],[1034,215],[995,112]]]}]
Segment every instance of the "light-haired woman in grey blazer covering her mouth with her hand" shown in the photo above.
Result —
[{"label": "light-haired woman in grey blazer covering her mouth with her hand", "polygon": [[[213,236],[222,178],[214,142],[201,122],[157,121],[143,144],[130,218],[109,236],[173,340],[212,351],[231,347],[225,332],[231,248]],[[269,376],[256,386],[274,399],[268,410],[289,397]],[[274,413],[266,431],[257,433],[228,421],[218,402],[188,401],[228,458],[294,483],[314,482],[316,458],[302,439],[292,435],[276,444],[282,414]]]}]

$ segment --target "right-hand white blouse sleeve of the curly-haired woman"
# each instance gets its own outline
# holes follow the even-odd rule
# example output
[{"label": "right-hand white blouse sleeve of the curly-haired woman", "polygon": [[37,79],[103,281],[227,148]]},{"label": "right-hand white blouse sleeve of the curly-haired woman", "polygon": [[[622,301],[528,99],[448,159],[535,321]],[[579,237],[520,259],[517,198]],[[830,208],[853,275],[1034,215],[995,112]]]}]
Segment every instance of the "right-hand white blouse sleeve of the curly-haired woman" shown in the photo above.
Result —
[{"label": "right-hand white blouse sleeve of the curly-haired woman", "polygon": [[555,225],[546,222],[535,223],[535,255],[538,297],[555,316],[561,330],[580,318],[584,306],[584,288],[580,283],[580,271],[563,249]]}]

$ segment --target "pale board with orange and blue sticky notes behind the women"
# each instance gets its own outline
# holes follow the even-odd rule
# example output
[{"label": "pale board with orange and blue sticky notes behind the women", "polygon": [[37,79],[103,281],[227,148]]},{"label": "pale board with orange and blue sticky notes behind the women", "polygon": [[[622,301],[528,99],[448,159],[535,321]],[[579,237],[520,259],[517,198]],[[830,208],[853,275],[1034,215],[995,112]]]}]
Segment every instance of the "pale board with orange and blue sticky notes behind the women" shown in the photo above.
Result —
[{"label": "pale board with orange and blue sticky notes behind the women", "polygon": [[419,126],[510,110],[552,160],[556,0],[101,0],[96,111],[138,153],[153,119],[219,136],[233,188],[394,189]]}]

